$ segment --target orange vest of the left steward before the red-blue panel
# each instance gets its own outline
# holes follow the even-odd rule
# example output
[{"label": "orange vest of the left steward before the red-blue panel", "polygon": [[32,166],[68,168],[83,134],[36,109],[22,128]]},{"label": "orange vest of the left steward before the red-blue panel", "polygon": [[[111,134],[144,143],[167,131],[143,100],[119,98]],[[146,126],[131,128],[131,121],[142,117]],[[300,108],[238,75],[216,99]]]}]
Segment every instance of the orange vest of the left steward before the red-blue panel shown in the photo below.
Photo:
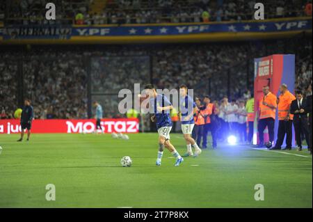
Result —
[{"label": "orange vest of the left steward before the red-blue panel", "polygon": [[[263,102],[266,102],[266,104],[271,104],[272,106],[275,106],[275,108],[272,109],[264,105]],[[277,97],[273,93],[270,92],[266,96],[262,97],[262,99],[259,100],[259,119],[273,118],[275,120],[276,107]]]}]

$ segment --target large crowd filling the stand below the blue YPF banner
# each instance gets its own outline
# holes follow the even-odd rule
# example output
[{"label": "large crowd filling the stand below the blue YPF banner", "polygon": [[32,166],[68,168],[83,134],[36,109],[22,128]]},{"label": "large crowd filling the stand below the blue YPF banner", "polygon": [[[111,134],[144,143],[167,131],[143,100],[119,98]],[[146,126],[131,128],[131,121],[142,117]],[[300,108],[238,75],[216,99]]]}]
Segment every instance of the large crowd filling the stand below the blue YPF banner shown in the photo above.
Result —
[{"label": "large crowd filling the stand below the blue YPF banner", "polygon": [[246,99],[253,87],[253,58],[270,54],[296,54],[296,88],[312,84],[310,38],[198,45],[3,47],[0,107],[9,116],[17,108],[18,97],[30,97],[35,118],[86,118],[89,74],[91,100],[101,102],[106,117],[118,113],[118,91],[134,90],[135,83],[152,82],[169,89],[187,84],[195,96]]}]

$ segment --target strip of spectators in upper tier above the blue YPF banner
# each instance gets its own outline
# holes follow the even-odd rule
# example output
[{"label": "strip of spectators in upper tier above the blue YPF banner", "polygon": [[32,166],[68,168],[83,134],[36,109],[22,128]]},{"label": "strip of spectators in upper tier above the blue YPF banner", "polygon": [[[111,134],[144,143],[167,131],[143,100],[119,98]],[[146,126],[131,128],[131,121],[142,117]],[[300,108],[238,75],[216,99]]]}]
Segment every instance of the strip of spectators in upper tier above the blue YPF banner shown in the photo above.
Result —
[{"label": "strip of spectators in upper tier above the blue YPF banner", "polygon": [[[6,1],[12,24],[147,24],[161,22],[221,22],[254,19],[255,0],[108,0],[102,10],[93,0],[56,0],[56,21],[45,19],[46,1]],[[4,5],[4,4],[3,4]],[[0,6],[1,7],[1,6]],[[3,6],[2,6],[3,8]],[[266,1],[266,19],[312,16],[312,1]],[[3,9],[4,10],[4,9]],[[1,8],[0,8],[1,16]]]}]

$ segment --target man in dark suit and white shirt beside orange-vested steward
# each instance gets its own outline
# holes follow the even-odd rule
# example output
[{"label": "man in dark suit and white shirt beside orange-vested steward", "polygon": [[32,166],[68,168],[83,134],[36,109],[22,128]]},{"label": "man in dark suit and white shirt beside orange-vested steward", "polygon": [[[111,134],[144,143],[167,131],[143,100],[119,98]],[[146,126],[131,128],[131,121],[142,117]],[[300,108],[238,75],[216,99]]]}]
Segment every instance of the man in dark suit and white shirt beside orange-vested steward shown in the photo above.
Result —
[{"label": "man in dark suit and white shirt beside orange-vested steward", "polygon": [[296,143],[298,151],[302,150],[301,130],[305,134],[307,144],[309,142],[309,129],[307,125],[307,100],[303,97],[300,90],[296,91],[296,100],[291,102],[290,113],[294,114],[294,131],[296,132]]}]

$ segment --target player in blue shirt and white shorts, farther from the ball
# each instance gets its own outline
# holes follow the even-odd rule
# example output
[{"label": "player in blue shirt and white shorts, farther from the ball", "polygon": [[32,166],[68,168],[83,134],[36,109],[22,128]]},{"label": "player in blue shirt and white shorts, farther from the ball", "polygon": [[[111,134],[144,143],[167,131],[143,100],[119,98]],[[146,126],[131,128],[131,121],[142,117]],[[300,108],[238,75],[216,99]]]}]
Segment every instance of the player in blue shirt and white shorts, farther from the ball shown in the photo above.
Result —
[{"label": "player in blue shirt and white shorts, farther from the ball", "polygon": [[[195,125],[195,120],[193,119],[193,113],[195,113],[198,108],[193,102],[193,98],[187,94],[188,88],[185,85],[179,87],[179,112],[182,113],[182,133],[184,134],[184,139],[186,141],[187,152],[183,157],[198,157],[201,153],[201,150],[195,140],[191,137],[193,132],[193,127]],[[195,154],[191,147],[195,148]]]}]

